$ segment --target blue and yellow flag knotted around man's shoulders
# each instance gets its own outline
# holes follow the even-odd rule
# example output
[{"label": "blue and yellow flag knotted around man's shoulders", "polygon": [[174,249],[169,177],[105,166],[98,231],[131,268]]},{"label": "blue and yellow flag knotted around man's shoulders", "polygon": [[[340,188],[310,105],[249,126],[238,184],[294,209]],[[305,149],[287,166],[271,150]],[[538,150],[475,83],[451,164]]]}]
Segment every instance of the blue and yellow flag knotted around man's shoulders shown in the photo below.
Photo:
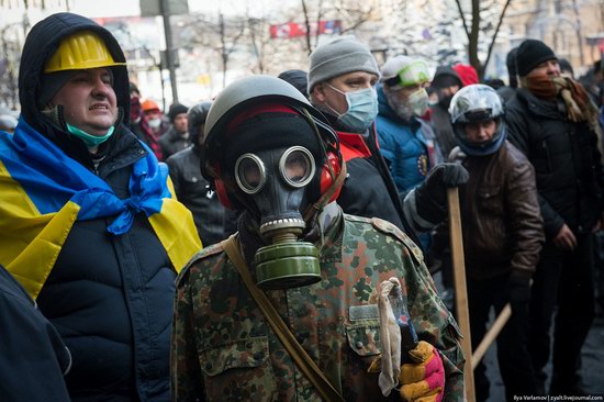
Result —
[{"label": "blue and yellow flag knotted around man's shoulders", "polygon": [[180,271],[201,242],[190,211],[171,196],[167,166],[149,149],[133,165],[130,193],[118,198],[21,119],[14,134],[0,132],[0,264],[35,299],[76,221],[115,216],[108,232],[119,236],[144,212]]}]

